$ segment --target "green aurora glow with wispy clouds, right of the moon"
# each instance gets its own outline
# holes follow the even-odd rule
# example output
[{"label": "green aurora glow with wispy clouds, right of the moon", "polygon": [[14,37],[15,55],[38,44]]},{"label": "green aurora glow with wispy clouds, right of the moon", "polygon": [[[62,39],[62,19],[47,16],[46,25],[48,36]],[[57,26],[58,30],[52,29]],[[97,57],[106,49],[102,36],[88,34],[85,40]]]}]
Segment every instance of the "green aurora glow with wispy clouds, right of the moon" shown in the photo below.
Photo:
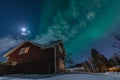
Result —
[{"label": "green aurora glow with wispy clouds, right of the moon", "polygon": [[[73,53],[75,58],[88,57],[91,48],[98,48],[103,54],[111,55],[113,33],[119,28],[117,25],[120,18],[120,1],[64,1],[53,0],[55,3],[48,1],[43,5],[43,24],[41,23],[40,33],[37,35],[38,42],[62,39],[67,53]],[[105,45],[107,47],[104,47]]]}]

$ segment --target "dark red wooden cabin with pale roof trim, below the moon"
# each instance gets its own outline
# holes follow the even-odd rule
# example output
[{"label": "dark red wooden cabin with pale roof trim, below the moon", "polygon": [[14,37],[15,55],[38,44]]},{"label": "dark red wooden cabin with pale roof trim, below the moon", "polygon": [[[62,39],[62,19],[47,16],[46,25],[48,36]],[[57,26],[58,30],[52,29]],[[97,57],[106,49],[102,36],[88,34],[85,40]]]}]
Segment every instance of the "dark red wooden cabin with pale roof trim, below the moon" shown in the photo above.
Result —
[{"label": "dark red wooden cabin with pale roof trim, below the moon", "polygon": [[15,66],[13,73],[54,74],[65,71],[65,49],[60,40],[46,45],[24,41],[4,57],[7,65]]}]

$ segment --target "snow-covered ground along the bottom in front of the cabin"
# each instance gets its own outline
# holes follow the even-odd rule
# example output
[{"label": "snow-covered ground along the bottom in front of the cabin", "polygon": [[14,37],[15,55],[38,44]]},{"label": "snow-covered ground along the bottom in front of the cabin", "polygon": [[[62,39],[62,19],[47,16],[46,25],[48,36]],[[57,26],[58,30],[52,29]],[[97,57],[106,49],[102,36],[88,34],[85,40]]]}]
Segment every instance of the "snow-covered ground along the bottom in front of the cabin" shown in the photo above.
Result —
[{"label": "snow-covered ground along the bottom in front of the cabin", "polygon": [[78,73],[60,75],[8,75],[1,76],[0,80],[120,80],[120,73]]}]

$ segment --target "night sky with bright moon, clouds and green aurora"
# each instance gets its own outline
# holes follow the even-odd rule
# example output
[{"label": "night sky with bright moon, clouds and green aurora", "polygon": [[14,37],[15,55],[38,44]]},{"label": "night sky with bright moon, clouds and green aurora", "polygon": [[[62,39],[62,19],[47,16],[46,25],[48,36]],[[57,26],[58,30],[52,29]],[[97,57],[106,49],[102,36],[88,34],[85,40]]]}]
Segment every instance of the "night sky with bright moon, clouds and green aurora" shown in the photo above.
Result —
[{"label": "night sky with bright moon, clouds and green aurora", "polygon": [[120,0],[0,0],[1,56],[22,41],[23,28],[40,44],[63,40],[75,62],[88,59],[91,48],[109,58],[118,52]]}]

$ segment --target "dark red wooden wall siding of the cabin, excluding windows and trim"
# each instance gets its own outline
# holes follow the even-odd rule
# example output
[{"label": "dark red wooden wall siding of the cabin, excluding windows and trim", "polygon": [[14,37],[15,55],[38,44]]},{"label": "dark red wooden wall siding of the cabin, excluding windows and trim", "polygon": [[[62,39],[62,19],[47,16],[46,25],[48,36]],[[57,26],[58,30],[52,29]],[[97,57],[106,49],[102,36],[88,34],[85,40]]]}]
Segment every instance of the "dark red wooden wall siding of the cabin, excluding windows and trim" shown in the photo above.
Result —
[{"label": "dark red wooden wall siding of the cabin, excluding windows and trim", "polygon": [[[59,46],[63,49],[61,53]],[[19,55],[21,48],[29,47],[27,54]],[[64,63],[65,51],[63,44],[60,43],[54,47],[42,49],[41,47],[26,42],[24,45],[16,49],[12,54],[8,56],[7,64],[17,63],[16,73],[54,73],[55,71],[55,47],[56,47],[56,73],[65,71],[60,66],[60,60],[62,59],[62,65]],[[25,70],[27,69],[27,70]]]}]

